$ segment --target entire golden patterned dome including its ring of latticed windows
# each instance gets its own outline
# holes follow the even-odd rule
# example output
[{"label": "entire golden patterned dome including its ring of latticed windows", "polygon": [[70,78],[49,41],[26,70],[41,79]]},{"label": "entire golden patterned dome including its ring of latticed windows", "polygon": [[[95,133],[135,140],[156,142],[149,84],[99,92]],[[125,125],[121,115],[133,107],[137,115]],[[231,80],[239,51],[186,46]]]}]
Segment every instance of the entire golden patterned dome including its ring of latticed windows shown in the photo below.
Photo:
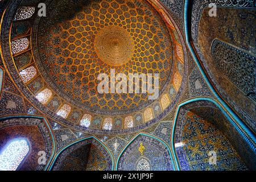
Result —
[{"label": "entire golden patterned dome including its ring of latticed windows", "polygon": [[[27,41],[28,45],[21,51],[11,46],[15,68],[6,61],[14,80],[23,78],[24,70],[35,69],[35,76],[15,81],[32,105],[77,130],[109,134],[141,130],[174,108],[187,77],[187,53],[176,23],[159,2],[54,0],[46,4],[46,17],[14,18],[11,43]],[[20,24],[29,24],[23,34],[16,32]],[[98,76],[105,73],[110,78],[113,70],[115,76],[158,73],[159,97],[148,99],[142,81],[135,82],[139,93],[99,93]],[[49,98],[40,100],[38,96],[46,92],[51,93]],[[58,114],[62,107],[68,110],[66,115]],[[90,119],[89,126],[80,125],[84,116]],[[130,127],[124,124],[127,117],[134,123]],[[112,121],[111,131],[102,129],[104,119]]]}]

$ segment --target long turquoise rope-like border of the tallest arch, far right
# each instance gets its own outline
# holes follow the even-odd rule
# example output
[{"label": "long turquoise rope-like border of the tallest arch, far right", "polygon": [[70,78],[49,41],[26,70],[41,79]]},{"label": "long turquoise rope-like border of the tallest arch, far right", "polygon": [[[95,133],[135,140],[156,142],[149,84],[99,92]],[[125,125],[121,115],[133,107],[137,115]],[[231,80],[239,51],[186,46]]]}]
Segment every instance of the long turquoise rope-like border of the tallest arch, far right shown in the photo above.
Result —
[{"label": "long turquoise rope-like border of the tallest arch, far right", "polygon": [[[220,108],[222,113],[228,118],[228,120],[232,123],[232,125],[236,128],[238,133],[240,133],[245,140],[251,147],[251,149],[256,152],[256,136],[249,129],[249,127],[246,126],[246,124],[241,120],[240,117],[234,111],[229,107],[228,104],[222,99],[220,94],[216,91],[212,83],[210,82],[207,74],[204,71],[203,65],[201,65],[200,58],[196,52],[195,46],[193,45],[192,39],[191,39],[191,30],[190,28],[190,10],[191,10],[192,2],[189,0],[184,1],[184,29],[185,29],[185,41],[187,43],[187,46],[189,48],[189,51],[191,52],[191,55],[193,59],[195,60],[195,63],[197,67],[199,68],[201,75],[203,76],[205,82],[207,83],[210,91],[213,93],[213,95],[216,97],[216,101],[209,100],[210,102],[213,102],[216,106]],[[192,101],[192,100],[191,100]],[[184,102],[185,103],[185,102]],[[178,109],[180,108],[180,105]],[[177,113],[176,113],[177,114]]]}]

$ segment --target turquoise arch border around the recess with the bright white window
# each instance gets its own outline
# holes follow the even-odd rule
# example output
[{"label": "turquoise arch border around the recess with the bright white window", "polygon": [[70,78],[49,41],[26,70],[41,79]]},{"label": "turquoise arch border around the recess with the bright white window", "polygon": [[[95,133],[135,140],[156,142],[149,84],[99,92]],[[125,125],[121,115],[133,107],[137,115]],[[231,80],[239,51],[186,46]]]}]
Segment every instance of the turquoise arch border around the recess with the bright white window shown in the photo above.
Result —
[{"label": "turquoise arch border around the recess with the bright white window", "polygon": [[1,121],[5,121],[7,119],[17,119],[17,118],[42,119],[42,121],[44,122],[44,125],[47,127],[47,130],[49,131],[49,134],[51,135],[51,139],[52,139],[52,152],[51,152],[50,158],[48,159],[48,162],[47,162],[46,166],[44,167],[44,171],[47,171],[47,168],[49,167],[49,164],[51,164],[53,156],[55,155],[55,151],[56,151],[55,137],[53,135],[53,131],[51,129],[51,126],[49,125],[49,123],[48,123],[46,118],[40,117],[40,116],[36,116],[36,115],[10,115],[10,116],[6,116],[6,117],[1,117],[0,118],[0,122]]}]

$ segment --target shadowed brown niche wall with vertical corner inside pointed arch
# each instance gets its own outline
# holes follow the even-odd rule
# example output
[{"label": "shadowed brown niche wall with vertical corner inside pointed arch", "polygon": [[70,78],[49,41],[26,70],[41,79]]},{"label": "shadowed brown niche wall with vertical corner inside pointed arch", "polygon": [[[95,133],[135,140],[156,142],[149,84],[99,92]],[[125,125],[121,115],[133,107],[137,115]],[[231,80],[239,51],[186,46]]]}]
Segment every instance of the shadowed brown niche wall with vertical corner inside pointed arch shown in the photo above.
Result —
[{"label": "shadowed brown niche wall with vertical corner inside pointed arch", "polygon": [[63,148],[51,164],[53,171],[110,171],[112,168],[111,154],[93,138]]}]

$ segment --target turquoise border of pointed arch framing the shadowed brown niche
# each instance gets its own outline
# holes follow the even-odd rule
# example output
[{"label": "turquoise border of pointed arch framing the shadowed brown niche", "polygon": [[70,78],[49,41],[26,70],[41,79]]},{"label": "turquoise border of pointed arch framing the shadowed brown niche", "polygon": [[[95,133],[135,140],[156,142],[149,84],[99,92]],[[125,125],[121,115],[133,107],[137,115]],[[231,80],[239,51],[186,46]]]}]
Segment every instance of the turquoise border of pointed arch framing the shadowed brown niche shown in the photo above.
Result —
[{"label": "turquoise border of pointed arch framing the shadowed brown niche", "polygon": [[94,140],[96,140],[96,142],[98,142],[98,144],[100,144],[101,147],[103,147],[103,148],[106,150],[106,152],[108,152],[108,154],[109,154],[109,156],[110,156],[110,158],[111,158],[111,162],[112,162],[111,170],[114,171],[114,157],[113,157],[112,152],[110,152],[109,148],[106,147],[106,145],[105,145],[103,142],[101,142],[100,139],[98,139],[98,138],[96,138],[96,137],[93,137],[93,136],[76,140],[75,142],[69,143],[67,146],[63,147],[63,148],[62,148],[59,152],[57,152],[57,154],[54,156],[54,159],[52,160],[52,163],[49,165],[47,171],[51,171],[51,170],[53,169],[53,166],[54,166],[56,160],[59,158],[60,154],[61,154],[62,152],[64,152],[67,148],[73,146],[74,144],[77,144],[77,143],[79,143],[79,142],[83,142],[83,141],[89,140],[89,139],[94,139]]}]

